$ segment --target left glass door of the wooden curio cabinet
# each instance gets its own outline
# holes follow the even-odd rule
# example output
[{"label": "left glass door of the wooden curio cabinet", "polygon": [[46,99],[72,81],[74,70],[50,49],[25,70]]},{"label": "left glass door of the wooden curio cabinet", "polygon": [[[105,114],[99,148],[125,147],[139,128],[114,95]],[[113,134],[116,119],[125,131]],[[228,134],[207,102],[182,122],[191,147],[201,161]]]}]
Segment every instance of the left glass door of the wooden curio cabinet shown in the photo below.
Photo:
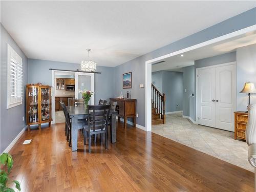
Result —
[{"label": "left glass door of the wooden curio cabinet", "polygon": [[35,123],[38,122],[38,88],[31,87],[28,88],[28,122]]}]

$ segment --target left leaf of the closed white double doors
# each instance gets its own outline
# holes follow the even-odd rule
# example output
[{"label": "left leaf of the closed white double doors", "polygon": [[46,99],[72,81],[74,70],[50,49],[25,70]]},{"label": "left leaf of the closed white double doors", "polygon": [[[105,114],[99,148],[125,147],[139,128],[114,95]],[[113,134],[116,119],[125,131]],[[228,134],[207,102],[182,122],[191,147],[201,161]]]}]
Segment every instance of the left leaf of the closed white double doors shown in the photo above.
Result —
[{"label": "left leaf of the closed white double doors", "polygon": [[215,69],[198,71],[198,121],[215,127]]}]

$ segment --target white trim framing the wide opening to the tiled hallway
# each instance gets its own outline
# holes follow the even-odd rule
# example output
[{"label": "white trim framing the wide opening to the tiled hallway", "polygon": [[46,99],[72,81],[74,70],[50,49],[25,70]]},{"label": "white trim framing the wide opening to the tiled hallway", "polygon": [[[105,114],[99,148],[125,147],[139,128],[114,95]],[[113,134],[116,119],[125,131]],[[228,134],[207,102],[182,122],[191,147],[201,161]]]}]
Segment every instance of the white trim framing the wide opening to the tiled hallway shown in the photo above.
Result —
[{"label": "white trim framing the wide opening to the tiled hallway", "polygon": [[215,42],[219,42],[219,41],[222,41],[222,40],[225,40],[228,38],[242,35],[242,34],[254,31],[254,30],[256,30],[256,25],[253,25],[253,26],[250,26],[250,27],[238,30],[238,31],[234,31],[232,33],[228,33],[226,35],[222,35],[220,37],[216,37],[216,38],[201,42],[200,44],[190,46],[185,49],[181,49],[181,50],[178,50],[178,51],[175,51],[175,52],[172,52],[172,53],[169,53],[169,54],[166,54],[166,55],[154,58],[154,59],[147,60],[145,62],[145,127],[146,127],[146,131],[152,130],[152,124],[151,124],[151,73],[152,73],[152,66],[151,65],[153,62],[156,62],[161,59],[165,59],[167,57],[179,55],[184,52],[198,49],[198,48],[210,45],[210,44],[214,44]]}]

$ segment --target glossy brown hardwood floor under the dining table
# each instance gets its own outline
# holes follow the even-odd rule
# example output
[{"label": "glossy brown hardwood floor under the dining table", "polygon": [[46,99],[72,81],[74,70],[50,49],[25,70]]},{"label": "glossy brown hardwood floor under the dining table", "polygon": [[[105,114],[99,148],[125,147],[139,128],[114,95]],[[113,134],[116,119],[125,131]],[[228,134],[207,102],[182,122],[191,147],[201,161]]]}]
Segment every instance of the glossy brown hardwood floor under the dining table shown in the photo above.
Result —
[{"label": "glossy brown hardwood floor under the dining table", "polygon": [[[254,175],[154,133],[122,124],[117,143],[72,152],[64,123],[26,131],[10,153],[22,191],[253,191]],[[27,145],[22,143],[32,139]]]}]

